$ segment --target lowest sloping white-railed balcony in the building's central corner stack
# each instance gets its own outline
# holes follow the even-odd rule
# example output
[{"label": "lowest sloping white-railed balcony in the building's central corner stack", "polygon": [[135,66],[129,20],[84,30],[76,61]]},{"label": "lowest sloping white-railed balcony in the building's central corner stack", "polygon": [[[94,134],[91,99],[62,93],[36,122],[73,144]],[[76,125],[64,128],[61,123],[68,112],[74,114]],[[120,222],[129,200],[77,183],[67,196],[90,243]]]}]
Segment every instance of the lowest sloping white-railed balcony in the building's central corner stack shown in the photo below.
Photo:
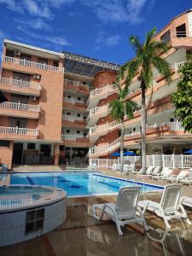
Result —
[{"label": "lowest sloping white-railed balcony in the building's central corner stack", "polygon": [[113,143],[105,143],[101,146],[95,146],[90,148],[89,156],[90,157],[98,157],[100,155],[108,155],[113,153],[113,151],[117,150],[120,147],[121,137],[113,141]]}]

